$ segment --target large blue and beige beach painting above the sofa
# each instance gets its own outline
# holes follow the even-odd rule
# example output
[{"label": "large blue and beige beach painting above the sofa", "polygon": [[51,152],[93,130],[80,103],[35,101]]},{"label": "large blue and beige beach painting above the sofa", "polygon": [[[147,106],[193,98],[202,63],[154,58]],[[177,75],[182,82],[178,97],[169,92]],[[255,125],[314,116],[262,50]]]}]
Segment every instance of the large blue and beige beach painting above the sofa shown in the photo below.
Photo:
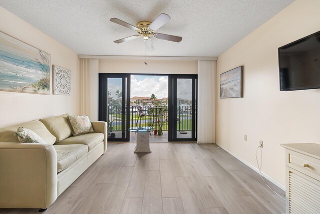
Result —
[{"label": "large blue and beige beach painting above the sofa", "polygon": [[0,90],[50,94],[50,55],[0,32]]}]

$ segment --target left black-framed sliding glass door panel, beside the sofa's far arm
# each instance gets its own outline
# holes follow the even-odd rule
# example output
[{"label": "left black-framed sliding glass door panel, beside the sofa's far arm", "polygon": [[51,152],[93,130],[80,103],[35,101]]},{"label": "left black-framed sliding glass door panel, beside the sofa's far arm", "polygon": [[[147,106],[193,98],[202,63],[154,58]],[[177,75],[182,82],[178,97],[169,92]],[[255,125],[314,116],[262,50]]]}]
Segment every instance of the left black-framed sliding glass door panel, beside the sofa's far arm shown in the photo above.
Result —
[{"label": "left black-framed sliding glass door panel, beside the sofa's far arm", "polygon": [[98,112],[108,123],[108,141],[129,141],[130,75],[99,74]]}]

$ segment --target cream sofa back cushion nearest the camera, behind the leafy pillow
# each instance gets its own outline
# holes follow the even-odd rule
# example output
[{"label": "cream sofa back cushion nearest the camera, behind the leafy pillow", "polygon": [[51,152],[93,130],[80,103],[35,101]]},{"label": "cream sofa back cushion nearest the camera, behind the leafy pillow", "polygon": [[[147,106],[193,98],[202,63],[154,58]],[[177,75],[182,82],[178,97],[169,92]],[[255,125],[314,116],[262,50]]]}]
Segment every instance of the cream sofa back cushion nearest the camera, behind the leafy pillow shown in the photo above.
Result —
[{"label": "cream sofa back cushion nearest the camera, behind the leafy pillow", "polygon": [[46,144],[52,145],[55,142],[55,137],[45,128],[43,123],[38,120],[0,128],[0,142],[18,143],[18,137],[14,134],[20,126],[32,130],[34,133],[39,135]]}]

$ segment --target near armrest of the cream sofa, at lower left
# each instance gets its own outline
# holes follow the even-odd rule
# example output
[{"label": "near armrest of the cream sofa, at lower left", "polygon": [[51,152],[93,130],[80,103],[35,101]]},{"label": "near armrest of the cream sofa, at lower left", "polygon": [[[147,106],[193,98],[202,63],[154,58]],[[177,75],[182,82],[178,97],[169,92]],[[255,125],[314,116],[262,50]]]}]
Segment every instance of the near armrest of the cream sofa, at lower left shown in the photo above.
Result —
[{"label": "near armrest of the cream sofa, at lower left", "polygon": [[46,208],[57,197],[52,145],[0,143],[0,208]]}]

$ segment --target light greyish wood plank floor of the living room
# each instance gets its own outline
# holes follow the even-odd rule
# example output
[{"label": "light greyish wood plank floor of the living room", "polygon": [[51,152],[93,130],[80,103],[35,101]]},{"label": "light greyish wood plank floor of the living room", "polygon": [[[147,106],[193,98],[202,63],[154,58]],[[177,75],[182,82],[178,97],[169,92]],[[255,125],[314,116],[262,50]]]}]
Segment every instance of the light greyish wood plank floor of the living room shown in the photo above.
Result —
[{"label": "light greyish wood plank floor of the living room", "polygon": [[[214,144],[108,143],[107,152],[44,213],[284,213],[259,175]],[[254,154],[248,154],[254,155]],[[282,197],[284,192],[268,184]],[[36,209],[0,209],[35,213]]]}]

